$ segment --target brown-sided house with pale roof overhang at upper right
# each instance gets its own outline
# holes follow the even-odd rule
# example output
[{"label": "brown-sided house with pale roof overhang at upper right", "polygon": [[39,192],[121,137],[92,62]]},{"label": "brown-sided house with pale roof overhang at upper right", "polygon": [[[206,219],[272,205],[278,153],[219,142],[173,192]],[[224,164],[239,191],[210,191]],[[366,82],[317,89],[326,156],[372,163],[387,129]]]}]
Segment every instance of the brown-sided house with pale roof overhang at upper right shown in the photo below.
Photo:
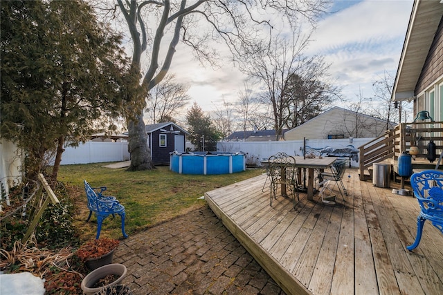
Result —
[{"label": "brown-sided house with pale roof overhang at upper right", "polygon": [[393,101],[414,102],[443,121],[443,3],[414,2],[392,91]]}]

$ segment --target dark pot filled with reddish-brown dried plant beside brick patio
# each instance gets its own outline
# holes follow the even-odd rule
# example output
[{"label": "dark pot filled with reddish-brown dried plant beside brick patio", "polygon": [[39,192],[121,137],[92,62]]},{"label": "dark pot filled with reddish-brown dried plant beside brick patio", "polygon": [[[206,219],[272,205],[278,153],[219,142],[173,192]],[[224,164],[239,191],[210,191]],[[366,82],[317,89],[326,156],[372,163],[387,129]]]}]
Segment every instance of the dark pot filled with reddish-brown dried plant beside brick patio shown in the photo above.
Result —
[{"label": "dark pot filled with reddish-brown dried plant beside brick patio", "polygon": [[91,270],[112,263],[114,251],[120,242],[111,238],[89,240],[76,251],[84,264]]}]

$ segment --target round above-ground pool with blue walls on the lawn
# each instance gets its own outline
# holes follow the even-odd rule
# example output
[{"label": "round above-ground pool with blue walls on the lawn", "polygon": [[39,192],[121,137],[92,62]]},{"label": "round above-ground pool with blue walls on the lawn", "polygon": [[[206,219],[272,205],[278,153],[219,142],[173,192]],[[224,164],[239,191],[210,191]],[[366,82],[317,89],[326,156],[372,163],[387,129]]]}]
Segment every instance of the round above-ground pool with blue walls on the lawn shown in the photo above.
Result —
[{"label": "round above-ground pool with blue walls on the lawn", "polygon": [[244,153],[171,153],[170,170],[180,174],[228,174],[246,170]]}]

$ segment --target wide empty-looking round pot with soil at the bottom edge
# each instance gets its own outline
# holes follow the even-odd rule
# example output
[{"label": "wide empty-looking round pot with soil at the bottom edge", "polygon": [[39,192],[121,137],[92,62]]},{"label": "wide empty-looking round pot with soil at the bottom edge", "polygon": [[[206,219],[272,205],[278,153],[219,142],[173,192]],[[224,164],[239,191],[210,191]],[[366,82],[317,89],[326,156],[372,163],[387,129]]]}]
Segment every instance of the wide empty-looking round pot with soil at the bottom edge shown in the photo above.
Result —
[{"label": "wide empty-looking round pot with soil at the bottom edge", "polygon": [[[127,269],[125,265],[122,265],[120,263],[103,265],[102,267],[98,267],[98,269],[94,269],[87,276],[85,276],[80,287],[82,287],[84,294],[106,294],[106,290],[109,287],[113,285],[118,285],[118,283],[120,283],[123,278],[125,278],[126,272]],[[96,286],[96,284],[100,280],[106,278],[107,276],[115,276],[116,278],[106,285]]]}]

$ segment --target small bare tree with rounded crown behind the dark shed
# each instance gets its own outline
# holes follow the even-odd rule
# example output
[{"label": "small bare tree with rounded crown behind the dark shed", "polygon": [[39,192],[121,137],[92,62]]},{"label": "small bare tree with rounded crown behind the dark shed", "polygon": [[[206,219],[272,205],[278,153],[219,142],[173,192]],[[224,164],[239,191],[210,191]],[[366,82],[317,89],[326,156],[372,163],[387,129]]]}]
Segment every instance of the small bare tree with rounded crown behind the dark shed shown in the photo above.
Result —
[{"label": "small bare tree with rounded crown behind the dark shed", "polygon": [[174,115],[190,101],[189,86],[175,82],[175,75],[166,75],[154,86],[146,99],[146,113],[152,123],[173,121]]}]

